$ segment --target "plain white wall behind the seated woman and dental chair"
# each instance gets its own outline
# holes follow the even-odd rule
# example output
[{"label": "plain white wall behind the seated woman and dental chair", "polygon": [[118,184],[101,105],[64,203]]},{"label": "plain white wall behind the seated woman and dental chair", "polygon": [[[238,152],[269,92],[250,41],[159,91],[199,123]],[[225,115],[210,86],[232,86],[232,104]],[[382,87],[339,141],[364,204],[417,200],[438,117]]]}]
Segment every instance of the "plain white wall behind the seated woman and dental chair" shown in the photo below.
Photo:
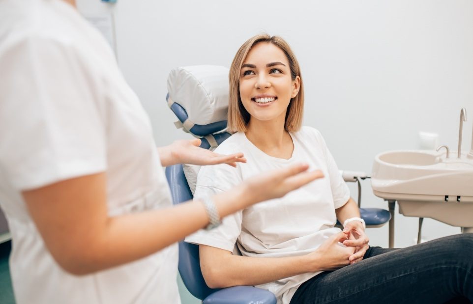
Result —
[{"label": "plain white wall behind the seated woman and dental chair", "polygon": [[[438,133],[455,150],[462,107],[469,118],[463,147],[470,147],[470,0],[77,1],[81,11],[113,11],[119,65],[151,117],[158,145],[187,138],[174,129],[165,103],[168,72],[229,66],[241,43],[265,31],[283,36],[296,52],[304,122],[321,130],[340,168],[370,172],[377,153],[418,148],[419,131]],[[363,186],[364,207],[387,208],[369,181]],[[459,228],[427,219],[423,231],[432,239]],[[387,227],[369,235],[372,244],[387,246]],[[412,245],[416,235],[417,219],[396,214],[395,245]]]}]

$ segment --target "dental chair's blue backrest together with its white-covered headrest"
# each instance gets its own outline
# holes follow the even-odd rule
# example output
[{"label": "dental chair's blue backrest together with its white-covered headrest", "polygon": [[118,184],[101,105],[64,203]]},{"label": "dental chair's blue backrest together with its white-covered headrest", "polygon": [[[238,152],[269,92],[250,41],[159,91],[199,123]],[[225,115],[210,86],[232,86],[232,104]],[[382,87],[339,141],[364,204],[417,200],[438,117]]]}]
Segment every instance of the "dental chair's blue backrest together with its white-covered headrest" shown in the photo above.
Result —
[{"label": "dental chair's blue backrest together with its white-covered headrest", "polygon": [[[199,65],[178,67],[169,73],[166,101],[178,121],[177,127],[202,137],[201,147],[214,148],[230,136],[227,127],[228,68]],[[166,167],[173,204],[191,200],[192,192],[182,165]],[[193,177],[197,178],[197,174]],[[193,181],[195,184],[195,180]],[[205,299],[219,289],[207,286],[199,262],[199,246],[179,242],[179,273],[189,292]]]}]

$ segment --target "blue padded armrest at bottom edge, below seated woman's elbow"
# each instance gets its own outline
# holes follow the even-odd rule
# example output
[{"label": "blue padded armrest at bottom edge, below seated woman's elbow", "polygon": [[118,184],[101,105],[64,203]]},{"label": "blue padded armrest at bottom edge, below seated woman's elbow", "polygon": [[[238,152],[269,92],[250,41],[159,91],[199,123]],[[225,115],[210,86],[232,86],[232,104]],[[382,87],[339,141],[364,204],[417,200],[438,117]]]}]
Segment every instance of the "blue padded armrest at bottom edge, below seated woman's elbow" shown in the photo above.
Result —
[{"label": "blue padded armrest at bottom edge, below seated woman's elbow", "polygon": [[253,286],[234,286],[221,289],[204,299],[203,304],[276,304],[276,296]]}]

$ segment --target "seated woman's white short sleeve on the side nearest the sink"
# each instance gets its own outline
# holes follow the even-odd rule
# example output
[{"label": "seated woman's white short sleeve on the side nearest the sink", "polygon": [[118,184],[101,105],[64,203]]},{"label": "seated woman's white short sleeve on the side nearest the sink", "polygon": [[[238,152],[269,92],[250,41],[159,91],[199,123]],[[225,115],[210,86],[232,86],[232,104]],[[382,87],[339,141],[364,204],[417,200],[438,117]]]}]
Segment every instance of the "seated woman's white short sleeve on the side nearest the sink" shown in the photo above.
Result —
[{"label": "seated woman's white short sleeve on the side nearest the sink", "polygon": [[325,163],[327,165],[328,177],[330,179],[330,189],[332,191],[333,203],[335,205],[335,209],[338,209],[345,205],[350,199],[350,189],[348,188],[347,183],[345,183],[343,180],[338,166],[335,163],[332,154],[328,150],[322,134],[318,130],[312,130],[315,133],[315,137],[317,138],[317,141],[319,142],[325,156]]}]

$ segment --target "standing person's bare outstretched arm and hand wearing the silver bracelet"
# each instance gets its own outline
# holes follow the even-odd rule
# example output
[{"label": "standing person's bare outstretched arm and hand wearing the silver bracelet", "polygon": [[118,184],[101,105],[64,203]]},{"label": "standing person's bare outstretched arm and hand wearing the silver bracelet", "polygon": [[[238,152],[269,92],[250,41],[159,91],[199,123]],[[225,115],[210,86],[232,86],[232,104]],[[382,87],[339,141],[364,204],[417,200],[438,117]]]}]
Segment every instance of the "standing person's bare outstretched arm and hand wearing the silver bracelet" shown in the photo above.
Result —
[{"label": "standing person's bare outstretched arm and hand wearing the silver bracelet", "polygon": [[[295,165],[261,174],[213,196],[220,217],[323,177],[321,171],[307,169]],[[106,185],[106,174],[97,173],[22,193],[46,247],[72,274],[86,275],[143,258],[208,224],[199,201],[110,217]]]}]

